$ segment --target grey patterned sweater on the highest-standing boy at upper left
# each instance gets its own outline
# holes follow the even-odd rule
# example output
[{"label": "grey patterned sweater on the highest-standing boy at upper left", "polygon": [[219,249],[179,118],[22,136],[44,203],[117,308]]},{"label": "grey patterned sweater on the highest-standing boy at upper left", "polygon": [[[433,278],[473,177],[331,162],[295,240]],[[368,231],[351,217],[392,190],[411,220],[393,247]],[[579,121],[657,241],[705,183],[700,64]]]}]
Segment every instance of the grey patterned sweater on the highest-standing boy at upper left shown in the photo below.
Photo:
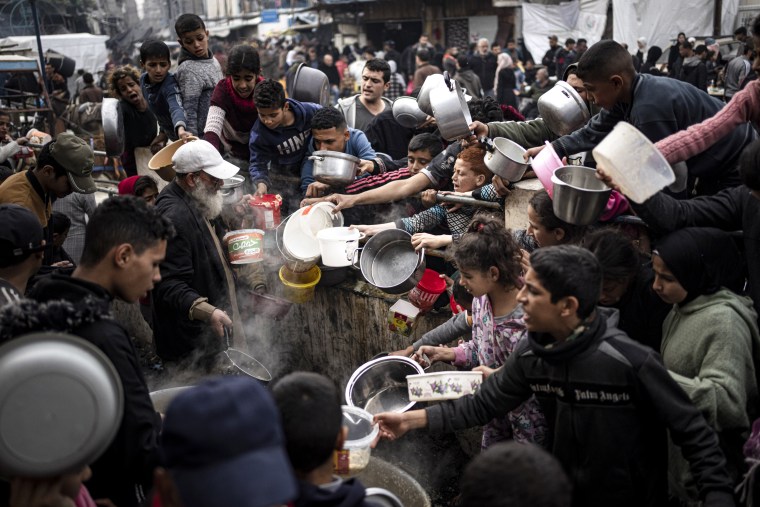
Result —
[{"label": "grey patterned sweater on the highest-standing boy at upper left", "polygon": [[182,92],[187,130],[202,136],[211,107],[211,94],[216,84],[224,78],[222,67],[211,51],[206,57],[199,58],[183,47],[179,54],[176,78]]}]

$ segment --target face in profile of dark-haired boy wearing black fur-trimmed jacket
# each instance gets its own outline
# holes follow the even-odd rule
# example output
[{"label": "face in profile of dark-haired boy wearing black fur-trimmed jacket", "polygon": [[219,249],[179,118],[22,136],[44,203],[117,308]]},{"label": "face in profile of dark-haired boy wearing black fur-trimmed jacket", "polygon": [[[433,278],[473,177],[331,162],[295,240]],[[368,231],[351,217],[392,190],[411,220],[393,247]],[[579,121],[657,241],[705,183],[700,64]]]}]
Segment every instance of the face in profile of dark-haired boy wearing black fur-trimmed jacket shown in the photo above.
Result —
[{"label": "face in profile of dark-haired boy wearing black fur-trimmed jacket", "polygon": [[[118,254],[117,254],[118,255]],[[116,278],[114,296],[128,303],[134,303],[145,297],[153,290],[153,286],[161,281],[159,265],[166,257],[166,240],[157,241],[141,254],[131,249],[123,260],[122,270]]]}]

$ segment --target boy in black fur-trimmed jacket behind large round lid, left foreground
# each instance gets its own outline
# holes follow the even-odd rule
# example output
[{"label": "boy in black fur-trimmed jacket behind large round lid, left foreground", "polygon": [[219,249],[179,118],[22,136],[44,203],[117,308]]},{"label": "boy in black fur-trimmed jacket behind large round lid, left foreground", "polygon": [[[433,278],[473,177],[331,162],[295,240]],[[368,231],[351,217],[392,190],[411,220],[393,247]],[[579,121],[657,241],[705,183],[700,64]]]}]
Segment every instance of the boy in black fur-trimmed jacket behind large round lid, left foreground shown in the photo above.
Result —
[{"label": "boy in black fur-trimmed jacket behind large round lid, left foreground", "polygon": [[40,280],[29,295],[34,301],[18,303],[24,318],[9,312],[0,316],[0,341],[42,330],[71,333],[97,346],[116,368],[124,413],[114,440],[90,464],[87,488],[93,498],[119,506],[136,507],[145,500],[158,462],[161,418],[150,401],[135,347],[109,306],[115,297],[136,302],[161,279],[158,266],[172,234],[169,221],[142,199],[112,197],[90,218],[74,273]]}]

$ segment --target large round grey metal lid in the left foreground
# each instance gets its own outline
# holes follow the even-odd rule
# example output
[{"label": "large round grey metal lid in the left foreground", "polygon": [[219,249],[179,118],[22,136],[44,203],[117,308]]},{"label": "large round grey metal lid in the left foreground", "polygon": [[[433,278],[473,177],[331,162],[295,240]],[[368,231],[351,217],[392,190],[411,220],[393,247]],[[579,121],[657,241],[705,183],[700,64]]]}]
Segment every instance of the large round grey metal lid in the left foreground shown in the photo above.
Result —
[{"label": "large round grey metal lid in the left foreground", "polygon": [[0,347],[0,471],[50,477],[94,461],[124,408],[113,364],[93,344],[35,333]]}]

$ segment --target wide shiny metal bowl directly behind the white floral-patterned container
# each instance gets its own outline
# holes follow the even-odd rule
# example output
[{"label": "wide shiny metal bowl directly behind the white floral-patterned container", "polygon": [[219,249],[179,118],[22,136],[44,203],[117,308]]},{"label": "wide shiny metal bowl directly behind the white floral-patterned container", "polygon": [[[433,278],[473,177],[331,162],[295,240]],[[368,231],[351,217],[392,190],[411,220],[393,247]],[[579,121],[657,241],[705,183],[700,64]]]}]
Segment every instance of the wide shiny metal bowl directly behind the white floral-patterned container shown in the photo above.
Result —
[{"label": "wide shiny metal bowl directly behind the white floral-patterned container", "polygon": [[422,366],[403,356],[385,356],[364,363],[346,384],[346,403],[370,414],[406,412],[409,401],[406,376],[424,373]]}]

